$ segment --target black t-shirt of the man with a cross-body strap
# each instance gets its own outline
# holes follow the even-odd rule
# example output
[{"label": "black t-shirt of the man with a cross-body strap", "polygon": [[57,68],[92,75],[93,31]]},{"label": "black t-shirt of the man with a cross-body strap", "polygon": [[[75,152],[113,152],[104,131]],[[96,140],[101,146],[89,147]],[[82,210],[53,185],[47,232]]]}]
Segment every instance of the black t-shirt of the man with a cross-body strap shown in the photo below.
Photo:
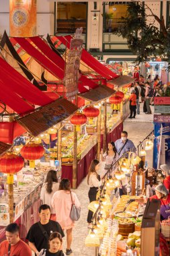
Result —
[{"label": "black t-shirt of the man with a cross-body strap", "polygon": [[[65,236],[60,224],[58,222],[54,222],[53,220],[50,220],[48,224],[42,225],[42,227],[44,230],[46,230],[48,236],[50,236],[50,234],[53,232],[60,233],[62,237]],[[48,249],[47,238],[44,236],[44,234],[42,234],[42,230],[40,229],[38,222],[31,226],[26,239],[28,239],[28,241],[31,243],[34,243],[38,251],[41,251],[41,249]]]}]

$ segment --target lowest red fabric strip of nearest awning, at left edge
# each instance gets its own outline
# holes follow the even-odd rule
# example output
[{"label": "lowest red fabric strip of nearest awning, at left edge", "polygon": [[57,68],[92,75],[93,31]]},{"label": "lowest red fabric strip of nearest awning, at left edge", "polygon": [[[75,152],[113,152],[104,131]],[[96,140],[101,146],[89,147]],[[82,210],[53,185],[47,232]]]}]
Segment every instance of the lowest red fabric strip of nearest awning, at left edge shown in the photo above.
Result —
[{"label": "lowest red fabric strip of nearest awning, at left edge", "polygon": [[[6,74],[4,73],[4,75]],[[1,72],[0,72],[0,76],[1,76]],[[22,113],[27,113],[31,110],[34,110],[33,106],[30,106],[15,92],[13,92],[13,90],[10,90],[10,88],[8,88],[5,83],[3,83],[2,79],[0,79],[0,88],[1,88],[0,99],[5,104],[7,104],[10,108],[15,110],[16,113],[22,114]]]}]

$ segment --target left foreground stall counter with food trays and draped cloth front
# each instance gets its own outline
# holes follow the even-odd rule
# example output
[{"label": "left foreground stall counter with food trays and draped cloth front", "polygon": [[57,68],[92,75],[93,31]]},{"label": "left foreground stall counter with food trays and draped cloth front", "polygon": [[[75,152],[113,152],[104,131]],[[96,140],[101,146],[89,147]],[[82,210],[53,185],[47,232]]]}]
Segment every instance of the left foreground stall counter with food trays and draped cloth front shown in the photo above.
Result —
[{"label": "left foreground stall counter with food trays and draped cloth front", "polygon": [[[48,172],[49,167],[44,167],[38,164],[36,170],[23,168],[21,171],[14,175],[14,186],[13,186],[13,220],[21,228],[21,238],[25,238],[28,229],[32,224],[39,220],[38,207],[40,206],[40,191],[42,188],[42,183],[44,181],[44,176]],[[5,181],[4,177],[4,181]],[[7,185],[5,184],[5,191],[0,198],[1,210],[3,209],[3,214],[0,213],[4,218],[9,216],[7,201]],[[4,207],[3,207],[4,206]],[[0,243],[5,239],[5,226],[9,224],[9,218],[6,222],[0,219]]]}]

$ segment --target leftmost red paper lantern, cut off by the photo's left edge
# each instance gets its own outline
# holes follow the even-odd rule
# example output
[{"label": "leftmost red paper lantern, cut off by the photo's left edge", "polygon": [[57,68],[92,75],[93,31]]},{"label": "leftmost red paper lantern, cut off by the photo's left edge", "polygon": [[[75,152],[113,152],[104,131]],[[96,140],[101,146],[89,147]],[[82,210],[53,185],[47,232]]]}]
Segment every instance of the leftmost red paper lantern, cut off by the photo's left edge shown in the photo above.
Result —
[{"label": "leftmost red paper lantern, cut off by the photo's left edge", "polygon": [[19,172],[24,167],[24,159],[15,154],[4,154],[0,158],[0,171],[8,174]]}]

